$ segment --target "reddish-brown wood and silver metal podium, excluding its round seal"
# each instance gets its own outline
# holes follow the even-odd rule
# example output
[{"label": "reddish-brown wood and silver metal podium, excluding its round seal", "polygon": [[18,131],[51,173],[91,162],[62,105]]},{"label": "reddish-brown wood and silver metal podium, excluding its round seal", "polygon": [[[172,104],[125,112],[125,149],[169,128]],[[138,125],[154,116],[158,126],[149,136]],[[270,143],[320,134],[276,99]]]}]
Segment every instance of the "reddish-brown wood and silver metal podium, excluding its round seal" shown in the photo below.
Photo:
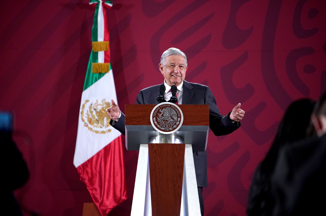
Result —
[{"label": "reddish-brown wood and silver metal podium, excluding its round seal", "polygon": [[163,134],[151,125],[155,104],[126,105],[126,148],[139,150],[131,215],[200,215],[193,151],[205,151],[209,105],[178,105],[183,123]]}]

